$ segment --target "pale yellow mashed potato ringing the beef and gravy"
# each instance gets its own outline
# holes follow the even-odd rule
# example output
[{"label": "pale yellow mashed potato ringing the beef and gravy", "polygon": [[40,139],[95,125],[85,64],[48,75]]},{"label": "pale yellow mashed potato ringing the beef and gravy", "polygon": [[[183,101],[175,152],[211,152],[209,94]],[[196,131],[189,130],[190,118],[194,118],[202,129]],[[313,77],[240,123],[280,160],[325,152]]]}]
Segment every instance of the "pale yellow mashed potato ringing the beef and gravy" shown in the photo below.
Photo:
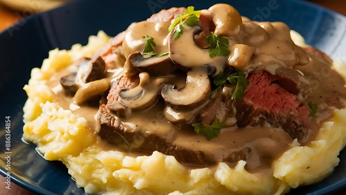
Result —
[{"label": "pale yellow mashed potato ringing the beef and gravy", "polygon": [[[293,37],[294,38],[294,37]],[[334,111],[307,146],[291,148],[273,162],[273,174],[251,174],[241,160],[234,168],[219,163],[215,169],[188,169],[155,151],[137,158],[104,150],[84,118],[53,102],[48,80],[82,56],[91,57],[110,37],[100,31],[89,44],[71,50],[51,50],[42,68],[34,68],[24,90],[24,140],[34,142],[46,160],[60,160],[87,194],[284,194],[324,178],[338,165],[346,142],[346,109]]]}]

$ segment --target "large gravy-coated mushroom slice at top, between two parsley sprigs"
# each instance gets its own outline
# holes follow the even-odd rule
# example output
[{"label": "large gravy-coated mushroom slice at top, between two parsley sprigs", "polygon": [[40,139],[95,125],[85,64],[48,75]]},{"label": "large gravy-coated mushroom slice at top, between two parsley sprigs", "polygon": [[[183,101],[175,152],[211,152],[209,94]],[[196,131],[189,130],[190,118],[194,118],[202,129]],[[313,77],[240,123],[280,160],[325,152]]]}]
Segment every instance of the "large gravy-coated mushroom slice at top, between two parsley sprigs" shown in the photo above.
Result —
[{"label": "large gravy-coated mushroom slice at top, between two parsley sprigs", "polygon": [[224,69],[227,64],[227,57],[209,57],[208,48],[201,48],[194,36],[202,32],[201,26],[183,25],[183,33],[178,39],[174,39],[173,32],[170,33],[169,46],[170,58],[179,68],[184,71],[196,66],[215,66],[215,73]]}]

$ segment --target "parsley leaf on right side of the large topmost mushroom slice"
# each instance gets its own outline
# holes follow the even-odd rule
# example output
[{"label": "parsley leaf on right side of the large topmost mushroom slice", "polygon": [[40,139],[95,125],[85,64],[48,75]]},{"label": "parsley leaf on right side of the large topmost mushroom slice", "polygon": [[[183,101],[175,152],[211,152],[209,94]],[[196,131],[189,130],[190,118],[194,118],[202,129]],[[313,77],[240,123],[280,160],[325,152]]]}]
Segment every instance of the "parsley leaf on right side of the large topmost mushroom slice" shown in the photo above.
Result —
[{"label": "parsley leaf on right side of the large topmost mushroom slice", "polygon": [[226,37],[221,37],[219,35],[215,35],[214,32],[210,32],[210,35],[206,37],[206,41],[208,44],[210,44],[210,58],[230,55],[230,50],[228,50],[230,41]]}]

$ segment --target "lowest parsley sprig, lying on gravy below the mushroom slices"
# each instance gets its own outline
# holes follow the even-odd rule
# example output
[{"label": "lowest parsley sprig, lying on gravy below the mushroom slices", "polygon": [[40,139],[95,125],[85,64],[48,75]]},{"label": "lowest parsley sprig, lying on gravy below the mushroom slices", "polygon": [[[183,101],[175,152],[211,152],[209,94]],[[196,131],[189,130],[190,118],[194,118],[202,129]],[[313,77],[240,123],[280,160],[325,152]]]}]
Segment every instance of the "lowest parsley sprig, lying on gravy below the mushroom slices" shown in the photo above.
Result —
[{"label": "lowest parsley sprig, lying on gravy below the mushroom slices", "polygon": [[212,138],[215,138],[219,136],[220,129],[225,127],[224,123],[220,123],[219,118],[215,118],[214,121],[212,121],[212,124],[201,124],[201,123],[194,123],[192,124],[192,127],[194,127],[194,132],[196,133],[203,133],[207,140],[211,140]]}]

